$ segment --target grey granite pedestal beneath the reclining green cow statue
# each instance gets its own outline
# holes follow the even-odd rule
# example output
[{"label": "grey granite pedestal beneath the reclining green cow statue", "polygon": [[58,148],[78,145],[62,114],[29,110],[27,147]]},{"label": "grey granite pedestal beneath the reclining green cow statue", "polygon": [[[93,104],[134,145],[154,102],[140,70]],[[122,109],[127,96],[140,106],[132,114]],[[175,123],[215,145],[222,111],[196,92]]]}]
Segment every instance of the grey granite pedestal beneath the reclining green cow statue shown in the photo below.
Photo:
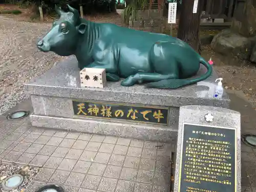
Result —
[{"label": "grey granite pedestal beneath the reclining green cow statue", "polygon": [[[202,67],[198,75],[205,73],[205,70]],[[214,72],[206,80],[178,90],[148,89],[141,85],[122,87],[120,81],[108,82],[105,88],[81,88],[77,60],[70,57],[27,84],[34,108],[31,123],[38,127],[170,141],[177,137],[180,106],[197,104],[229,108],[230,100],[226,92],[222,99],[212,97],[216,78]],[[74,113],[74,100],[126,105],[134,110],[136,106],[167,108],[168,120],[166,124],[159,124],[78,116]]]}]

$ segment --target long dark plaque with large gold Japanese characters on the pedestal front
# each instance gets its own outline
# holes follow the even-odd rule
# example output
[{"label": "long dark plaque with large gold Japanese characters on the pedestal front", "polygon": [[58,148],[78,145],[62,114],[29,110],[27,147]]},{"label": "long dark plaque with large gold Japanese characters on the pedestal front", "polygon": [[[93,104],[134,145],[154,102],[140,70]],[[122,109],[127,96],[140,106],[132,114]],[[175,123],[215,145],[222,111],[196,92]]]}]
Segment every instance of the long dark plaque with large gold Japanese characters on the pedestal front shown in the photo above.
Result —
[{"label": "long dark plaque with large gold Japanese characters on the pedestal front", "polygon": [[168,108],[72,101],[74,114],[87,117],[124,119],[147,123],[168,123]]}]

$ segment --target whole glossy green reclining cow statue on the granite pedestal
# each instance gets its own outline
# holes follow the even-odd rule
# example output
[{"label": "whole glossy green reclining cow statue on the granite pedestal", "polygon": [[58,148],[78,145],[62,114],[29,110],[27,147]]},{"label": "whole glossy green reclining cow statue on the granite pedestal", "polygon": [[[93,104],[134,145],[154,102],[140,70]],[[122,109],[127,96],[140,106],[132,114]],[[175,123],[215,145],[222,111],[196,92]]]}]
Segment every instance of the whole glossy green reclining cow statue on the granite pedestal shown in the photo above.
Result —
[{"label": "whole glossy green reclining cow statue on the granite pedestal", "polygon": [[[146,83],[150,88],[177,89],[204,80],[212,73],[208,62],[176,37],[93,23],[68,7],[69,12],[56,7],[60,18],[37,42],[39,50],[75,55],[80,69],[106,69],[108,81],[124,78],[122,86]],[[187,79],[196,75],[200,63],[207,72]]]}]

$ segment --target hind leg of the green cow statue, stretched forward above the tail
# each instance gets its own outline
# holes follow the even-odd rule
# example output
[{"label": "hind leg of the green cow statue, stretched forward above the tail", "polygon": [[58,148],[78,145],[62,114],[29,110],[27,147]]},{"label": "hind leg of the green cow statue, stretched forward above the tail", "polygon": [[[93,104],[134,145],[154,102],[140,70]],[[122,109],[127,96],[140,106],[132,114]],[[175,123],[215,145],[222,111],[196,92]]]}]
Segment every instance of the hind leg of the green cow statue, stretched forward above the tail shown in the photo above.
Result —
[{"label": "hind leg of the green cow statue, stretched forward above the tail", "polygon": [[176,74],[159,74],[159,73],[136,73],[135,75],[130,75],[121,82],[122,86],[133,86],[135,83],[143,82],[156,82],[163,79],[175,79],[178,78]]}]

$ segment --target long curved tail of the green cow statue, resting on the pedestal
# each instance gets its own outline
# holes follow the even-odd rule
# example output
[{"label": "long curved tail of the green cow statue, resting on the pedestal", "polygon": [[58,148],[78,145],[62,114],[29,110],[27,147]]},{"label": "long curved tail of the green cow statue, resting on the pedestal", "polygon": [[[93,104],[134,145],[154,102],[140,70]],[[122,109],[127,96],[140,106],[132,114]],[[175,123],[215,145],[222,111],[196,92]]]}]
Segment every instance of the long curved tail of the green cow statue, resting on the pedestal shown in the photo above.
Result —
[{"label": "long curved tail of the green cow statue, resting on the pedestal", "polygon": [[180,88],[183,86],[188,86],[189,84],[194,84],[199,81],[202,81],[211,75],[212,67],[202,57],[200,57],[199,61],[207,68],[207,72],[198,78],[194,78],[194,79],[164,79],[164,80],[157,81],[157,82],[147,83],[146,87],[159,88],[159,89],[177,89],[177,88]]}]

